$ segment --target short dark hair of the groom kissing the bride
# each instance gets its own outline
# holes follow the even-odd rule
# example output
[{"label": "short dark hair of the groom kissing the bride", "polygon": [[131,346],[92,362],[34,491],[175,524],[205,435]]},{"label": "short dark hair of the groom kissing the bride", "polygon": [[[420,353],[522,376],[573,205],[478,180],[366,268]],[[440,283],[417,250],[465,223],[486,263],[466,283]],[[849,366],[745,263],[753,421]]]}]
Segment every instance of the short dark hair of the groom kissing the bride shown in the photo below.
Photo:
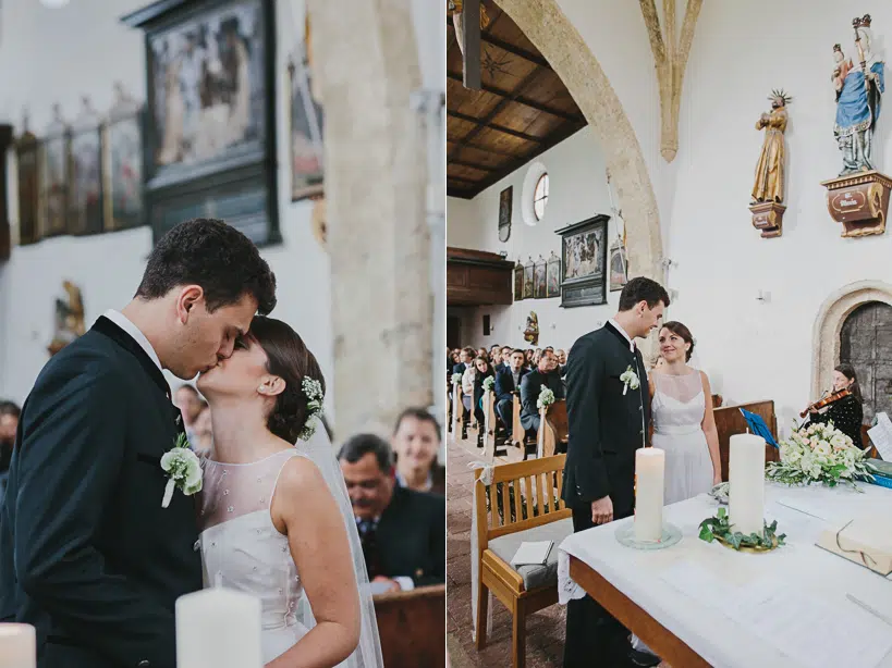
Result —
[{"label": "short dark hair of the groom kissing the bride", "polygon": [[190,284],[201,286],[210,312],[236,304],[243,295],[257,300],[261,316],[276,308],[276,274],[254,243],[221,220],[196,218],[162,236],[149,255],[136,297],[159,299]]}]

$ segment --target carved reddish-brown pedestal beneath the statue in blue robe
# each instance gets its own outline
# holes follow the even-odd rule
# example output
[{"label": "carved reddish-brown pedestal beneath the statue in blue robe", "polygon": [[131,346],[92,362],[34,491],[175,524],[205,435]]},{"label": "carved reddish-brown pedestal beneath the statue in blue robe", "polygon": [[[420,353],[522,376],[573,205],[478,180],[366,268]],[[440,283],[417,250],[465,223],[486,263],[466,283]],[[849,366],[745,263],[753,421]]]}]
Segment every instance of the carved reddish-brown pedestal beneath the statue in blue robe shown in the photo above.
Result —
[{"label": "carved reddish-brown pedestal beneath the statue in blue robe", "polygon": [[885,232],[892,178],[877,171],[838,176],[821,183],[827,188],[827,210],[842,223],[841,236]]}]

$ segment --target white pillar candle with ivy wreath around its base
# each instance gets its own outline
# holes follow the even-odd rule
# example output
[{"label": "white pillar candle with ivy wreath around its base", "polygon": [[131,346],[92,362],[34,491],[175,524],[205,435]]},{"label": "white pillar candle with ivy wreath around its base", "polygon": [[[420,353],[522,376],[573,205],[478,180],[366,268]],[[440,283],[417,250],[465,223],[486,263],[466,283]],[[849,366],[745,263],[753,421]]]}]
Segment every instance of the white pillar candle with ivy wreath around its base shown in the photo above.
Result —
[{"label": "white pillar candle with ivy wreath around its base", "polygon": [[745,535],[761,535],[765,523],[765,438],[731,436],[729,457],[729,521]]}]

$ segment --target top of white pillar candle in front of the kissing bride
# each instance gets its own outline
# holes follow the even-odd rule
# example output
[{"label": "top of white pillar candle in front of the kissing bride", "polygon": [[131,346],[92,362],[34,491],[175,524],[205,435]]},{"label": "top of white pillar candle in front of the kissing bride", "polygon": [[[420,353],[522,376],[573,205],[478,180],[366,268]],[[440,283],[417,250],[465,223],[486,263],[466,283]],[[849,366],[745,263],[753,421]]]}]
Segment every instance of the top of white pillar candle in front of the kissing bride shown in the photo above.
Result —
[{"label": "top of white pillar candle in front of the kissing bride", "polygon": [[176,668],[262,668],[260,601],[224,589],[176,599]]}]

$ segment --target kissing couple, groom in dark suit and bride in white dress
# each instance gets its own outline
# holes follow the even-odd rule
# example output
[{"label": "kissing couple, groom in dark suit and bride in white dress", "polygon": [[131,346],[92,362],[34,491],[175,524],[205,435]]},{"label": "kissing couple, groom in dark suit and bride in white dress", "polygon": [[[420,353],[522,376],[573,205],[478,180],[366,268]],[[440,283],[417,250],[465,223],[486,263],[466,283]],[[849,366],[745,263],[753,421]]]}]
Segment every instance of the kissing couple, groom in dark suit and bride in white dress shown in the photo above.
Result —
[{"label": "kissing couple, groom in dark suit and bride in white dress", "polygon": [[[325,379],[274,306],[246,236],[184,222],[133,300],[44,367],[0,509],[0,621],[36,628],[39,668],[175,668],[175,602],[203,586],[259,598],[266,668],[382,665],[346,487],[313,437]],[[209,458],[163,369],[198,376]]]}]

